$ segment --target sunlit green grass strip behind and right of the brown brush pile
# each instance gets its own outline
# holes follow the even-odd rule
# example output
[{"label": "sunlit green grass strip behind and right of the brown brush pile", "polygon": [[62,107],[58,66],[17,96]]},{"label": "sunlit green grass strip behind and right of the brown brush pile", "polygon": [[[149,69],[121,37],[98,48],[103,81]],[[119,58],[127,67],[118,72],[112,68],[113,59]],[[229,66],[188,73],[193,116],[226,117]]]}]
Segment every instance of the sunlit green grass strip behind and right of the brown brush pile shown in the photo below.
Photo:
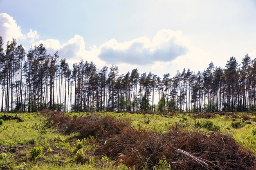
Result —
[{"label": "sunlit green grass strip behind and right of the brown brush pile", "polygon": [[[66,113],[68,114],[68,113]],[[157,115],[157,114],[132,114],[132,113],[113,113],[113,112],[104,112],[97,113],[101,116],[114,116],[121,119],[130,119],[132,121],[132,127],[138,129],[139,127],[145,128],[148,130],[155,131],[168,131],[171,127],[175,127],[175,123],[177,122],[177,127],[186,128],[188,131],[209,131],[205,128],[195,128],[195,121],[205,122],[211,121],[213,125],[220,127],[220,132],[232,135],[238,143],[256,153],[256,136],[253,135],[253,129],[256,129],[256,122],[252,120],[244,121],[244,126],[239,129],[234,129],[231,124],[232,122],[243,121],[243,119],[232,119],[226,118],[226,116],[220,116],[216,114],[216,118],[198,118],[194,119],[192,113],[180,113],[175,116],[169,115]],[[238,116],[242,116],[246,113],[236,113]],[[90,113],[73,113],[72,116],[88,116]],[[249,117],[255,118],[254,115],[250,115]],[[147,120],[149,123],[147,124]],[[182,123],[184,122],[184,123]],[[183,126],[185,124],[189,124],[189,126]],[[249,122],[250,124],[246,124]],[[191,127],[194,126],[194,127]]]}]

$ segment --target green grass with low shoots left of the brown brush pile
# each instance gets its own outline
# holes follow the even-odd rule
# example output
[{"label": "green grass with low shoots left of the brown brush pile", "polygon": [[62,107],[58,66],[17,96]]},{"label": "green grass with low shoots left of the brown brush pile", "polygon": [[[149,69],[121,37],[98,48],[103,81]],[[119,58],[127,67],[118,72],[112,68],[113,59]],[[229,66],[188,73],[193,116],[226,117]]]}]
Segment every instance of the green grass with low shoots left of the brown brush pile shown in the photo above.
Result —
[{"label": "green grass with low shoots left of the brown brush pile", "polygon": [[[0,116],[2,115],[3,113],[0,113]],[[14,116],[11,113],[7,115]],[[85,162],[83,165],[76,162],[73,151],[77,143],[77,133],[63,135],[58,133],[57,129],[47,128],[45,126],[47,118],[39,113],[20,113],[17,116],[23,122],[8,120],[0,125],[0,146],[5,148],[0,153],[1,169],[120,169],[120,167],[113,166],[111,161],[102,165],[100,162]],[[18,147],[18,151],[11,153],[10,147]],[[42,153],[35,148],[42,148]],[[95,145],[89,143],[83,146],[85,153],[94,148]],[[33,155],[36,151],[38,151],[38,155]]]}]

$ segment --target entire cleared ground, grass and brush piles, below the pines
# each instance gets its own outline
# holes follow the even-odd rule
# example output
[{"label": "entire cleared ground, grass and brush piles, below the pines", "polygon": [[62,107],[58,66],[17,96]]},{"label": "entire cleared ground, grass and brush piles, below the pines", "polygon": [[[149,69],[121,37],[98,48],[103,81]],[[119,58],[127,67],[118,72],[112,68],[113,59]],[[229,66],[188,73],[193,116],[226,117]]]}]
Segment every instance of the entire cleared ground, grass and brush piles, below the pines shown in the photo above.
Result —
[{"label": "entire cleared ground, grass and brush piles, below the pines", "polygon": [[255,113],[0,113],[0,168],[255,169]]}]

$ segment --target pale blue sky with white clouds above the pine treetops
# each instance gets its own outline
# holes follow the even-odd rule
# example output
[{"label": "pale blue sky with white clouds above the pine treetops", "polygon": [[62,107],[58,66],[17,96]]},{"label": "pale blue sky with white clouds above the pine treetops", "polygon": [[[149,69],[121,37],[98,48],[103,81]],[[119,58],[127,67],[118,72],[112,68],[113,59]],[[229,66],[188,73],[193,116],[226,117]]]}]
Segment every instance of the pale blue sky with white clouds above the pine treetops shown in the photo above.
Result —
[{"label": "pale blue sky with white clouds above the pine treetops", "polygon": [[0,36],[158,76],[256,58],[256,0],[0,0]]}]

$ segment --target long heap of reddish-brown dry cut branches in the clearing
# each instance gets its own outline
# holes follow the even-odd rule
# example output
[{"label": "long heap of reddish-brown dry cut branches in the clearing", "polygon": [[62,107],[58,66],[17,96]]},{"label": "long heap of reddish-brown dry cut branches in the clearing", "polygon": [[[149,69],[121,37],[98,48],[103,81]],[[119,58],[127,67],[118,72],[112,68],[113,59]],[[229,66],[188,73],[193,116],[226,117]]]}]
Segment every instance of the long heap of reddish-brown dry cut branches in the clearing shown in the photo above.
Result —
[{"label": "long heap of reddish-brown dry cut branches in the clearing", "polygon": [[59,131],[66,134],[79,132],[81,138],[97,136],[94,154],[107,155],[117,165],[123,163],[135,169],[153,169],[160,159],[164,159],[177,170],[256,169],[254,153],[220,132],[132,129],[128,120],[96,115],[72,118],[54,113],[48,122],[54,122]]}]

